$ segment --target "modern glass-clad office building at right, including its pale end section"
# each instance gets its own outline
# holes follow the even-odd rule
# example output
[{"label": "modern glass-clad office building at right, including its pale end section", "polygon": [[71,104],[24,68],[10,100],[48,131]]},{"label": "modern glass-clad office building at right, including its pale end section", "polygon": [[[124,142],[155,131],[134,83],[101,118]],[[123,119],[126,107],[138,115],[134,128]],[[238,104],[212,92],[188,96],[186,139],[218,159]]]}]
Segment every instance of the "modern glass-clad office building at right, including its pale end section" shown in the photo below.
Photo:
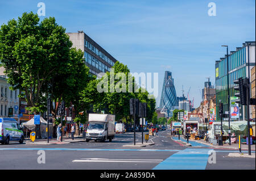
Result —
[{"label": "modern glass-clad office building at right, including its pale end section", "polygon": [[[248,49],[249,47],[249,49]],[[249,53],[248,53],[249,52]],[[248,57],[250,65],[248,64]],[[236,48],[236,51],[231,51],[230,54],[225,55],[225,58],[220,58],[215,64],[215,78],[216,78],[216,116],[219,116],[219,103],[223,103],[224,113],[228,111],[228,78],[227,78],[227,60],[229,60],[229,95],[234,96],[237,92],[234,90],[234,80],[242,77],[248,77],[248,66],[250,69],[255,65],[255,41],[246,41],[243,47]],[[245,115],[243,115],[245,113]],[[240,105],[240,120],[246,119],[246,109]]]}]

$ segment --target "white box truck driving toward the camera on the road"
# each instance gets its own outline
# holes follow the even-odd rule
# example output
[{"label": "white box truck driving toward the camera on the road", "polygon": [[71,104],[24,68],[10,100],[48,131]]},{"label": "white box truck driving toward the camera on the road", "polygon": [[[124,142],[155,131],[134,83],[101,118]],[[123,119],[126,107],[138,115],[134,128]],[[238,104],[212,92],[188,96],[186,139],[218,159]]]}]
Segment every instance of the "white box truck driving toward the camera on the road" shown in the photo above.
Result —
[{"label": "white box truck driving toward the camera on the road", "polygon": [[115,135],[115,115],[89,113],[86,142],[90,140],[110,142]]}]

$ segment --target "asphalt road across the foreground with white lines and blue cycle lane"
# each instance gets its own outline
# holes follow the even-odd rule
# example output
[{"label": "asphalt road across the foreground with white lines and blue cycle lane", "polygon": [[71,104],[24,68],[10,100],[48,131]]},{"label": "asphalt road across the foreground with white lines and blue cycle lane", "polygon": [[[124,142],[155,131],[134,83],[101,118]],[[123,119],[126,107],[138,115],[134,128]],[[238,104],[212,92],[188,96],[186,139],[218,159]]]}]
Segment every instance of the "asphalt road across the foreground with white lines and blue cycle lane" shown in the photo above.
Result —
[{"label": "asphalt road across the foreground with white lines and blue cycle lane", "polygon": [[[141,142],[141,132],[136,133]],[[205,146],[187,147],[170,138],[167,131],[150,136],[155,145],[133,145],[133,133],[116,134],[112,142],[76,142],[64,145],[0,145],[2,169],[86,169],[86,170],[204,170],[254,169],[255,158],[227,157],[234,150],[217,150]],[[43,151],[42,151],[43,150]],[[209,163],[212,152],[216,163]],[[45,163],[42,156],[45,153]],[[213,154],[212,154],[213,155]],[[39,162],[38,162],[39,161]]]}]

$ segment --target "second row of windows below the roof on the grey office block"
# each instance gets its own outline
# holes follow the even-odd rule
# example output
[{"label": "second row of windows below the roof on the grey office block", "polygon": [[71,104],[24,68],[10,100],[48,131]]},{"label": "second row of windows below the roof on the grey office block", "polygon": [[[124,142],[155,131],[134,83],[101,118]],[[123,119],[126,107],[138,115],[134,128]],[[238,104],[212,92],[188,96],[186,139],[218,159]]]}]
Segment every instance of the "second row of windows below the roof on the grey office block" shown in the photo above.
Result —
[{"label": "second row of windows below the roof on the grey office block", "polygon": [[90,53],[84,52],[85,61],[92,65],[94,68],[100,70],[101,72],[110,71],[110,68],[106,66],[103,62],[92,56]]}]

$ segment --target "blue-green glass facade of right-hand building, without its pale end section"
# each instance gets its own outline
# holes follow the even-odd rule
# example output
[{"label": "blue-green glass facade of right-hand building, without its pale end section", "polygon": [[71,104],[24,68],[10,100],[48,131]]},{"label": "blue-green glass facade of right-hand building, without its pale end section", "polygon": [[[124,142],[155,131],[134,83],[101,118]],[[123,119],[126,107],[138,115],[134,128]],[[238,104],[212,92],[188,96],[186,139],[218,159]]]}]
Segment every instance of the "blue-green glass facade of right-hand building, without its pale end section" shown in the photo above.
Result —
[{"label": "blue-green glass facade of right-hand building, without its pale end section", "polygon": [[[219,103],[220,100],[223,103],[224,113],[228,111],[228,78],[227,78],[227,59],[229,59],[229,95],[234,96],[237,91],[234,90],[234,80],[246,77],[246,47],[243,47],[229,57],[222,58],[220,61],[216,61],[216,116],[217,120],[220,120],[219,116]],[[246,113],[246,110],[244,111]],[[243,117],[243,107],[240,106],[240,119]],[[246,116],[246,115],[245,115]]]}]

